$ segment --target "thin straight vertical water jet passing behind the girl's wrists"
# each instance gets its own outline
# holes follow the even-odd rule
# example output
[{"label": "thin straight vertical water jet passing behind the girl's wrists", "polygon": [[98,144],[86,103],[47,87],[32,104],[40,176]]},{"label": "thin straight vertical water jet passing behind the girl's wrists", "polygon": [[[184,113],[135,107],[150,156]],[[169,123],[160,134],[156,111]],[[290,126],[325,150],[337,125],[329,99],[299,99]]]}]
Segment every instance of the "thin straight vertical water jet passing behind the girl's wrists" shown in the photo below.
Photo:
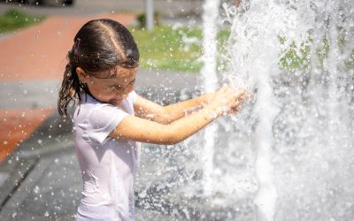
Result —
[{"label": "thin straight vertical water jet passing behind the girl's wrists", "polygon": [[[204,67],[202,76],[204,79],[204,91],[206,93],[215,91],[218,86],[218,78],[216,75],[216,57],[217,57],[217,41],[218,32],[217,19],[219,15],[219,0],[206,0],[203,5],[203,60]],[[212,170],[215,135],[218,126],[215,124],[208,126],[204,132],[204,194],[212,194]]]}]

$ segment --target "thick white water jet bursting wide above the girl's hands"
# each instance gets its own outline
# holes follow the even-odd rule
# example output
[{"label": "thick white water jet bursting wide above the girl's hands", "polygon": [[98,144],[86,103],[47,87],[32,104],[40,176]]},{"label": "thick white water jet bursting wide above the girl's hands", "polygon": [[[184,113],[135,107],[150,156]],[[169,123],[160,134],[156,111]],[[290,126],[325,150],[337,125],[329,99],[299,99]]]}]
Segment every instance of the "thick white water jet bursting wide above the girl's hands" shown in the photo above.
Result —
[{"label": "thick white water jet bursting wide above the girl's hands", "polygon": [[255,167],[259,185],[255,203],[258,207],[258,220],[273,220],[276,190],[271,158],[276,108],[269,79],[272,74],[280,72],[278,56],[281,47],[277,38],[280,28],[273,26],[273,22],[278,20],[275,24],[281,24],[284,11],[273,2],[252,1],[249,6],[249,11],[243,17],[236,17],[240,19],[234,21],[232,37],[237,42],[232,50],[235,52],[233,65],[236,72],[246,74],[247,80],[252,80],[252,84],[258,89],[257,103],[254,106],[254,117],[258,119],[258,124],[252,141],[257,149]]}]

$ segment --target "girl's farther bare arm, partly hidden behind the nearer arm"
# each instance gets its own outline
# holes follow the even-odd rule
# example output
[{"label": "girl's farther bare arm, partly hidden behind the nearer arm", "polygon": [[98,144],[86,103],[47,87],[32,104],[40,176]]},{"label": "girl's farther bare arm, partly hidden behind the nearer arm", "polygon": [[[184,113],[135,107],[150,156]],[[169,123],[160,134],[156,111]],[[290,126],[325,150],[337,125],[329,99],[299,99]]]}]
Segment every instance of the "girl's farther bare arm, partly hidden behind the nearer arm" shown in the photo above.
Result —
[{"label": "girl's farther bare arm, partly hidden behind the nearer arm", "polygon": [[153,103],[140,95],[137,95],[134,104],[135,116],[150,119],[160,124],[170,124],[174,120],[183,118],[193,111],[203,108],[210,103],[214,93],[198,96],[180,103],[172,103],[167,106]]}]

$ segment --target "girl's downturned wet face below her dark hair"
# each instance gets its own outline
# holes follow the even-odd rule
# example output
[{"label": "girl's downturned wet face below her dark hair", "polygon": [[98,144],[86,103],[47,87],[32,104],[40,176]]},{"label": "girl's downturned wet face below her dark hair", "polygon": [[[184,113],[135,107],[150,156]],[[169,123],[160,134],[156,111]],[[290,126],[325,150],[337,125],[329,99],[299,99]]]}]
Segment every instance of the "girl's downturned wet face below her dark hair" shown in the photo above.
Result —
[{"label": "girl's downturned wet face below her dark hair", "polygon": [[116,74],[111,78],[96,78],[93,75],[87,75],[81,69],[84,75],[82,76],[80,70],[77,69],[76,71],[80,80],[87,84],[91,95],[102,103],[119,105],[135,87],[137,68],[117,67]]}]

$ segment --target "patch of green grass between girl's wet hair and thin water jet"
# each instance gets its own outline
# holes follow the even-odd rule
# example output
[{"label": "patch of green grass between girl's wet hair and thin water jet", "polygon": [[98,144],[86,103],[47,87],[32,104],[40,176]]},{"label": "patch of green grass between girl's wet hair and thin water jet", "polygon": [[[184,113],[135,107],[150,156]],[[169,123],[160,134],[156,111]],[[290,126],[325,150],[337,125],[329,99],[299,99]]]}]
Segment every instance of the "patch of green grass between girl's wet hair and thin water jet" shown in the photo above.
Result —
[{"label": "patch of green grass between girl's wet hair and thin water jet", "polygon": [[[179,72],[199,72],[202,68],[203,63],[199,58],[203,53],[203,34],[200,28],[173,28],[160,25],[151,33],[142,28],[129,29],[140,50],[142,68]],[[222,50],[228,35],[228,31],[221,31],[218,34],[219,50]],[[184,42],[183,36],[194,38],[196,42]]]}]

